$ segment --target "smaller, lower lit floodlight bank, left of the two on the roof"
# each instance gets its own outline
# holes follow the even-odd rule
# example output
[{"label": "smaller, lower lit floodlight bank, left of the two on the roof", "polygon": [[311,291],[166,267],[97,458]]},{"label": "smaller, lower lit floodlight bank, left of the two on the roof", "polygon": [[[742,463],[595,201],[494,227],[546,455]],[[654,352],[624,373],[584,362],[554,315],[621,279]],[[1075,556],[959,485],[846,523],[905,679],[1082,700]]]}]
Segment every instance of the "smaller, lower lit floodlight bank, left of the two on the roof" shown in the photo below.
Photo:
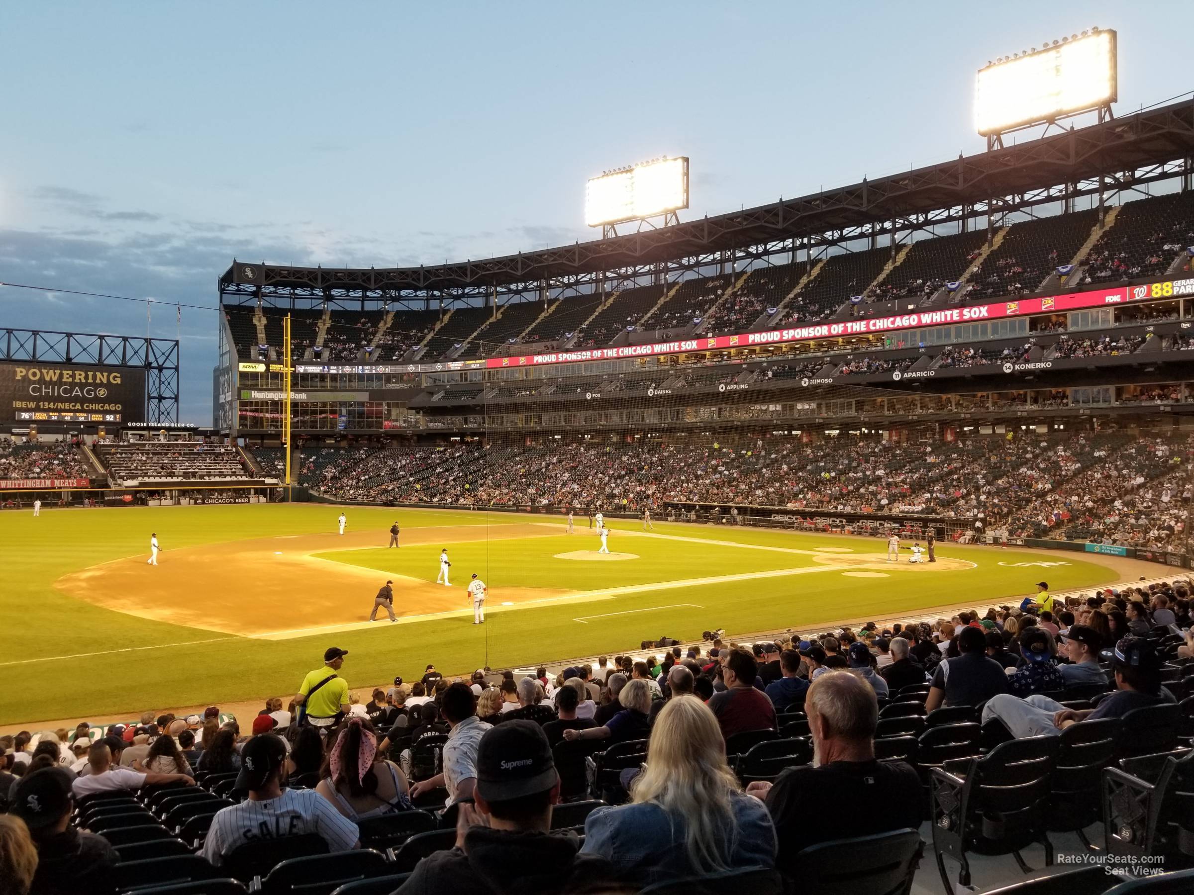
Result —
[{"label": "smaller, lower lit floodlight bank, left of the two on the roof", "polygon": [[585,187],[585,223],[590,227],[683,208],[688,208],[688,156],[659,159],[590,178]]}]

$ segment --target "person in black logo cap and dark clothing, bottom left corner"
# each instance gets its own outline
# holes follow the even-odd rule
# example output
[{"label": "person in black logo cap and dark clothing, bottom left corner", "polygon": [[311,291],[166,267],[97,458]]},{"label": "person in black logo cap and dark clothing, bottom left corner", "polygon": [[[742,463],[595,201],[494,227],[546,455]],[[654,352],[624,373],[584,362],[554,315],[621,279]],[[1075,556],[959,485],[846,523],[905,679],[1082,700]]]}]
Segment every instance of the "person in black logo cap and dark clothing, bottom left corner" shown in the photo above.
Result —
[{"label": "person in black logo cap and dark clothing, bottom left corner", "polygon": [[118,858],[106,839],[70,827],[70,773],[47,767],[17,784],[8,810],[20,817],[37,847],[31,893],[112,890]]}]

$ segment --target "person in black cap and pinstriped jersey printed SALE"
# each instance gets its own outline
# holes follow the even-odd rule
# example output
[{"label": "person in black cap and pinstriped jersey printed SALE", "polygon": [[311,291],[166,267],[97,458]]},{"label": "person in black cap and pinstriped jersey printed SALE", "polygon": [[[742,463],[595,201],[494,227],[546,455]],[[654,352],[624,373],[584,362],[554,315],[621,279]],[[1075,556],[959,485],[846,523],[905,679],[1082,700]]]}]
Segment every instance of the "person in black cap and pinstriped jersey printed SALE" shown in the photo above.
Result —
[{"label": "person in black cap and pinstriped jersey printed SALE", "polygon": [[356,848],[357,825],[313,789],[282,789],[287,746],[275,734],[261,734],[241,749],[235,788],[247,790],[240,804],[222,808],[211,819],[202,856],[219,866],[242,845],[261,839],[314,834],[328,851]]}]

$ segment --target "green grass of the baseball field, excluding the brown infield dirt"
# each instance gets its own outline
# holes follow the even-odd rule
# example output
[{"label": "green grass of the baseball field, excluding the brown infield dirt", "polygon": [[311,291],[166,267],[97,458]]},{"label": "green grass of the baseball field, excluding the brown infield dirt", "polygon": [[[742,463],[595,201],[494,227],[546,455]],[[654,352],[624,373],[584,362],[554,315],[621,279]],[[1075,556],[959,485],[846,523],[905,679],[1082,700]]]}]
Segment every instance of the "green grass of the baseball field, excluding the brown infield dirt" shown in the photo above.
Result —
[{"label": "green grass of the baseball field, excluding the brown infield dirt", "polygon": [[[640,640],[661,635],[695,638],[713,626],[743,632],[771,628],[799,630],[847,617],[891,616],[958,601],[985,606],[1030,592],[1032,584],[1041,578],[1055,590],[1096,586],[1115,579],[1109,568],[1072,553],[1041,556],[946,547],[938,550],[938,556],[966,560],[977,567],[931,575],[893,573],[885,579],[851,578],[833,569],[659,588],[658,584],[665,581],[818,564],[811,555],[788,553],[790,549],[839,548],[878,554],[885,545],[872,538],[663,523],[656,524],[658,533],[684,539],[644,538],[623,533],[636,530],[636,523],[611,520],[615,532],[610,549],[633,553],[639,558],[622,562],[555,558],[560,553],[597,548],[597,538],[580,520],[573,536],[412,545],[402,549],[401,560],[394,555],[398,551],[387,554],[384,549],[330,551],[319,556],[433,581],[438,550],[448,547],[454,563],[453,584],[461,588],[462,609],[462,588],[473,570],[494,588],[656,587],[581,603],[510,609],[491,603],[484,626],[472,625],[470,618],[439,618],[284,641],[235,637],[154,622],[67,597],[54,587],[54,581],[66,573],[144,555],[150,531],[158,532],[168,555],[171,549],[181,547],[330,532],[334,530],[338,512],[326,505],[252,505],[45,508],[38,519],[29,512],[0,513],[5,557],[0,578],[0,667],[5,681],[0,690],[0,723],[291,693],[302,674],[320,663],[324,648],[331,644],[351,652],[344,675],[350,685],[364,686],[395,674],[417,678],[427,662],[435,662],[445,673],[463,673],[484,665],[500,668],[626,650]],[[519,521],[506,513],[399,510],[396,514],[404,532],[423,526]],[[351,530],[376,530],[382,544],[395,511],[351,507],[347,516]],[[783,548],[783,551],[750,549],[750,545]],[[1041,560],[1066,564],[1052,568],[1013,564]],[[318,587],[319,582],[313,581],[312,586]],[[253,582],[246,581],[245,599],[252,599],[252,592]],[[195,606],[202,605],[205,595],[203,581],[195,581],[186,592],[162,593],[160,599]],[[278,626],[287,626],[285,619],[279,619]]]}]

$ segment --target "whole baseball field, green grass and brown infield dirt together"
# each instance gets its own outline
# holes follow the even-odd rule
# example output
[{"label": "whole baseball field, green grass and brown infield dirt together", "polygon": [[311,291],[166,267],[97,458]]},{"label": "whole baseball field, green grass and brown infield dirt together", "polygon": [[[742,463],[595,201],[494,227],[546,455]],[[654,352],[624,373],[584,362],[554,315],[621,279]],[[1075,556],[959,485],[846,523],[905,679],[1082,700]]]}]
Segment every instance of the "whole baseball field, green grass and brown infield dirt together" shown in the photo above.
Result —
[{"label": "whole baseball field, green grass and brown infield dirt together", "polygon": [[[328,646],[363,690],[447,674],[848,618],[893,617],[1124,580],[1124,560],[938,547],[886,561],[874,538],[584,517],[248,505],[0,513],[0,724],[294,692]],[[389,526],[401,547],[388,548]],[[149,538],[161,544],[147,563]],[[435,584],[447,548],[451,586]],[[466,585],[488,586],[473,624]],[[398,623],[370,623],[394,581]]]}]

